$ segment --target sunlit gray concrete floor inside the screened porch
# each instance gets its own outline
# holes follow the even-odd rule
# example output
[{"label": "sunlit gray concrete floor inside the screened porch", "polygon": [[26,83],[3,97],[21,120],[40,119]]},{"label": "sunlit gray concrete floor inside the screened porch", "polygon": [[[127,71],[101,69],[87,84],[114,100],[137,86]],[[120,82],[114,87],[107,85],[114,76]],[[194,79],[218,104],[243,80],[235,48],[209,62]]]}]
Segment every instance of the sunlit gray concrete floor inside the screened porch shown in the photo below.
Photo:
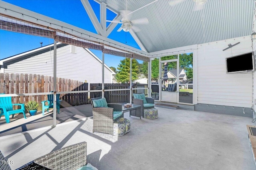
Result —
[{"label": "sunlit gray concrete floor inside the screened porch", "polygon": [[158,109],[158,119],[124,117],[131,131],[92,133],[92,118],[0,137],[12,169],[44,154],[87,142],[88,162],[99,170],[254,170],[246,125],[252,118],[182,109]]}]

